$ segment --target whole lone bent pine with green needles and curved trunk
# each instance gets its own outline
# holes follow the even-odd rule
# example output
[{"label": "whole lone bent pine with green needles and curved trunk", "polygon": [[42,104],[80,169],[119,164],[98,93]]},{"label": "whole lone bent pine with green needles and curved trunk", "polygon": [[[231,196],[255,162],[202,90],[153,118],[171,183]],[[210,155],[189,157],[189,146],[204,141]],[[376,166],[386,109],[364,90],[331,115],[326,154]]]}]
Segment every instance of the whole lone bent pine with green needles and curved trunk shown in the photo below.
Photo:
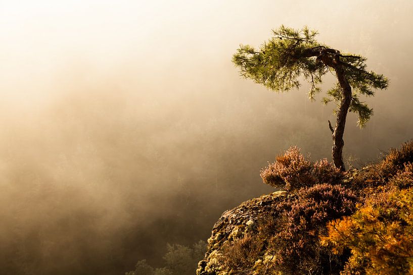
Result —
[{"label": "whole lone bent pine with green needles and curved trunk", "polygon": [[337,102],[336,126],[329,128],[333,136],[333,163],[345,171],[343,162],[343,134],[348,112],[358,114],[358,126],[364,127],[373,115],[373,109],[360,101],[359,95],[373,96],[374,89],[387,89],[388,79],[373,71],[366,71],[366,58],[343,54],[315,40],[317,32],[304,27],[295,30],[285,26],[273,30],[273,37],[256,50],[240,45],[233,63],[241,76],[250,78],[273,91],[299,88],[299,77],[310,83],[309,98],[320,92],[322,77],[332,72],[337,83],[327,91],[323,103]]}]

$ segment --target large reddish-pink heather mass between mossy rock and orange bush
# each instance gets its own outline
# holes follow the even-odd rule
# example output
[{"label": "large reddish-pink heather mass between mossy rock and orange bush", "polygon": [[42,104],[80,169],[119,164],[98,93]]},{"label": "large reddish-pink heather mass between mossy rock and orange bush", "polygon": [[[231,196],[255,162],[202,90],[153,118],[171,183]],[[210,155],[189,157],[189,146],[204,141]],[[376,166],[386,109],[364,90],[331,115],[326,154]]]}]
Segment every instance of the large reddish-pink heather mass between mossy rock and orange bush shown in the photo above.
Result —
[{"label": "large reddish-pink heather mass between mossy rock and orange bush", "polygon": [[277,270],[287,274],[338,273],[346,255],[333,255],[319,243],[326,223],[354,211],[356,196],[340,185],[318,184],[302,188],[297,197],[280,204],[277,232],[269,242]]}]

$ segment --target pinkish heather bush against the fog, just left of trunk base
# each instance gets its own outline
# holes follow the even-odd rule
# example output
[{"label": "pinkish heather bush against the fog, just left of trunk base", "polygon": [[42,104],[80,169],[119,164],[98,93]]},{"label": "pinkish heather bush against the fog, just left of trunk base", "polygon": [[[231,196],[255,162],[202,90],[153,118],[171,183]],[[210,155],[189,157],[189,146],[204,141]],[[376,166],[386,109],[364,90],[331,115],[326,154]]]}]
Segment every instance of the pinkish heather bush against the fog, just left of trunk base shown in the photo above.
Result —
[{"label": "pinkish heather bush against the fog, just left of trunk base", "polygon": [[327,159],[311,162],[294,146],[262,169],[260,176],[265,184],[289,191],[317,183],[340,183],[343,173],[332,167]]}]

